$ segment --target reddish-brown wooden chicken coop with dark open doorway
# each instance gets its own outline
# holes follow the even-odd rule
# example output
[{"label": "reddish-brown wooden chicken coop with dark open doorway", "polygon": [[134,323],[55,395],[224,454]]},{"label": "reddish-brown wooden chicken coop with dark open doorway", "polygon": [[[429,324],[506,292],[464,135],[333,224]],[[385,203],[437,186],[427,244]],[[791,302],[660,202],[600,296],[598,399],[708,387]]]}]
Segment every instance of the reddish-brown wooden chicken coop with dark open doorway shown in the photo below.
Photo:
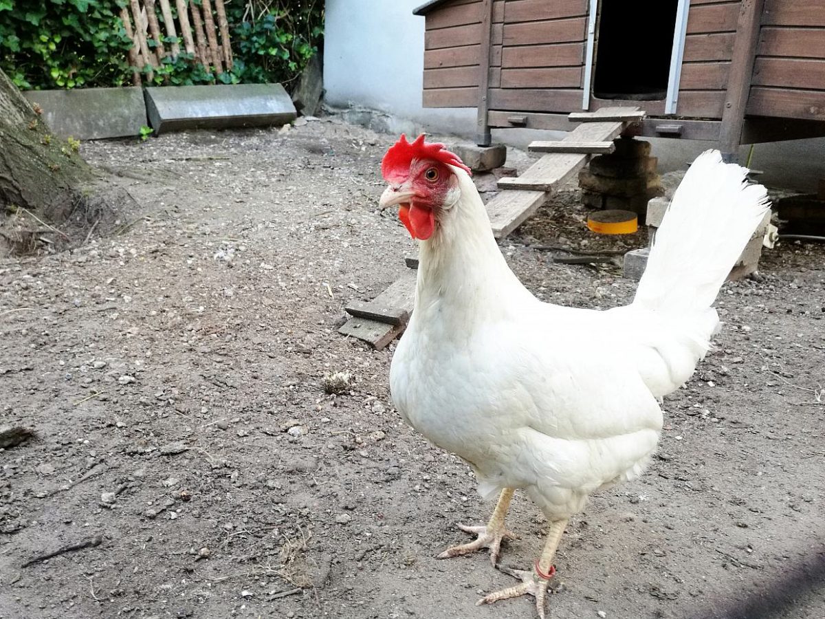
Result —
[{"label": "reddish-brown wooden chicken coop with dark open doorway", "polygon": [[425,107],[494,127],[569,130],[632,106],[638,135],[739,144],[825,135],[823,0],[432,0]]}]

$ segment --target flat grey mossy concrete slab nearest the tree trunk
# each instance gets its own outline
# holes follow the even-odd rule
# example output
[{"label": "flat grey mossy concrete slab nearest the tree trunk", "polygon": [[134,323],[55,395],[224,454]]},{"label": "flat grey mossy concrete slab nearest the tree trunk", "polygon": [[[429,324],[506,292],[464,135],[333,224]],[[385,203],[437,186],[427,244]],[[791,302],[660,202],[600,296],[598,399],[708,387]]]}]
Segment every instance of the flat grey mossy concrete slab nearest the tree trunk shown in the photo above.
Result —
[{"label": "flat grey mossy concrete slab nearest the tree trunk", "polygon": [[137,87],[30,90],[23,97],[43,109],[46,124],[63,138],[122,138],[140,135],[146,125],[144,95]]}]

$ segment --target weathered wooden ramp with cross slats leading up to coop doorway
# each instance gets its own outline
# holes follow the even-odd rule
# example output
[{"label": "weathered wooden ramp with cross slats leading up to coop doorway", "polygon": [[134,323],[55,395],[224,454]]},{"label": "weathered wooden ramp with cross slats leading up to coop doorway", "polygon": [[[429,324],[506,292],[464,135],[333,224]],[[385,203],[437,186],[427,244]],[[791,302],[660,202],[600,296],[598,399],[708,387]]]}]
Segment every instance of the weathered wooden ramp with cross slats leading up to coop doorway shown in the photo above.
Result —
[{"label": "weathered wooden ramp with cross slats leading up to coop doorway", "polygon": [[[564,139],[531,143],[530,150],[545,154],[520,177],[500,178],[498,187],[507,191],[501,191],[487,203],[496,239],[506,237],[539,210],[559,186],[585,166],[591,155],[613,152],[613,139],[643,116],[643,111],[633,107],[577,112],[569,118],[581,124]],[[362,339],[378,350],[403,333],[413,313],[418,266],[416,258],[406,260],[410,268],[387,290],[370,303],[351,303],[344,308],[352,318],[338,329],[339,333]]]}]

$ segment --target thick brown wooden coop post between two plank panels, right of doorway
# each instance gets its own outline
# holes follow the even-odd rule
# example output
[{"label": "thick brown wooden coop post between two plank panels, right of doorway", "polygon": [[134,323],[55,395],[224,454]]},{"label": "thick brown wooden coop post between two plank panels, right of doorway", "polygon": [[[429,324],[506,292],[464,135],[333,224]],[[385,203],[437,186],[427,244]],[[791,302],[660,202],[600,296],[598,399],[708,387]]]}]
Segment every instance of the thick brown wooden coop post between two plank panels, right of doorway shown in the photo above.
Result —
[{"label": "thick brown wooden coop post between two plank panels, right of doorway", "polygon": [[753,63],[757,54],[757,39],[765,0],[742,0],[736,24],[736,39],[725,92],[722,126],[719,128],[719,150],[726,161],[735,161],[745,124],[745,106],[751,92]]}]

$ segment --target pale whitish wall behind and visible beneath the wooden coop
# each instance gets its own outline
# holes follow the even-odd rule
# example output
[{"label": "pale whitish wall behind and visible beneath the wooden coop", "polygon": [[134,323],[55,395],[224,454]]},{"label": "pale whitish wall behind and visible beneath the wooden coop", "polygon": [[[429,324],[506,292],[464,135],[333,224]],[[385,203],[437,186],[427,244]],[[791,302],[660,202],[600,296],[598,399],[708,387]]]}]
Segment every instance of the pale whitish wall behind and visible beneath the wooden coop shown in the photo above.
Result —
[{"label": "pale whitish wall behind and visible beneath the wooden coop", "polygon": [[[323,82],[332,106],[361,106],[384,112],[393,133],[421,130],[472,138],[474,108],[422,107],[424,18],[413,9],[424,0],[326,0]],[[493,130],[493,140],[526,148],[531,139],[558,139],[559,131]],[[710,142],[652,139],[659,171],[684,169]],[[747,147],[740,153],[747,158]],[[825,138],[757,144],[751,167],[763,182],[813,191],[825,177]]]}]

